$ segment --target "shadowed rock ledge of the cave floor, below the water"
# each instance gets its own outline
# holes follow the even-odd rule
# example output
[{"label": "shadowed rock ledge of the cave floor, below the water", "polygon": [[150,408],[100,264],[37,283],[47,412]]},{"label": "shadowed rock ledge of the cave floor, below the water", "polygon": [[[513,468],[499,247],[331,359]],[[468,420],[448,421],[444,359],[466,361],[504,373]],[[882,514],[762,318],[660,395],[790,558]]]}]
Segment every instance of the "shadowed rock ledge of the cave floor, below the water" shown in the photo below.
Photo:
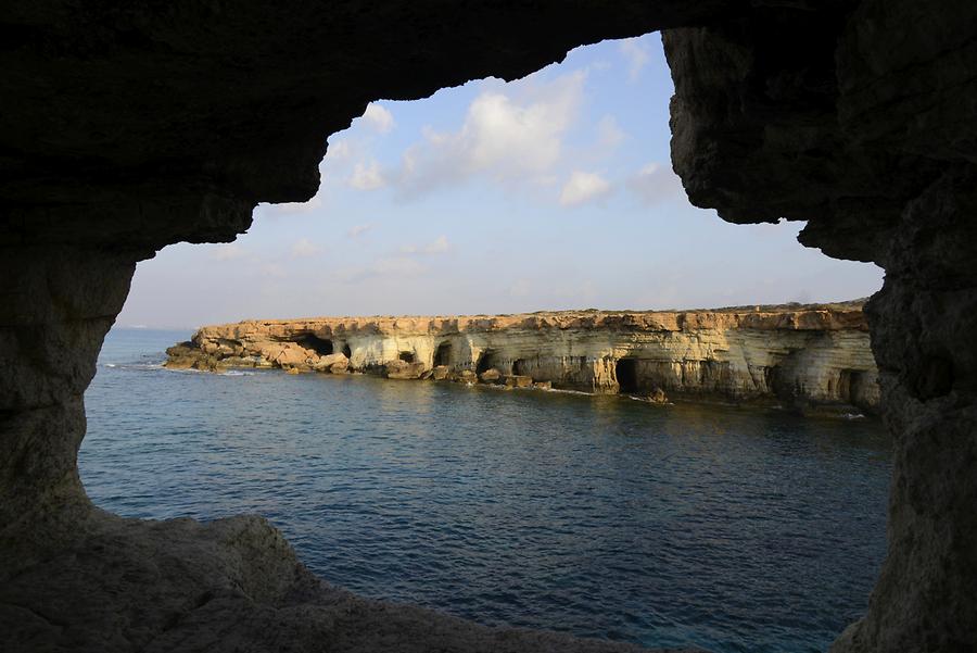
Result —
[{"label": "shadowed rock ledge of the cave floor, below the water", "polygon": [[[0,557],[0,649],[176,652],[644,651],[371,601],[308,572],[264,518],[79,510]],[[0,540],[2,541],[2,540]],[[3,551],[5,550],[5,551]]]}]

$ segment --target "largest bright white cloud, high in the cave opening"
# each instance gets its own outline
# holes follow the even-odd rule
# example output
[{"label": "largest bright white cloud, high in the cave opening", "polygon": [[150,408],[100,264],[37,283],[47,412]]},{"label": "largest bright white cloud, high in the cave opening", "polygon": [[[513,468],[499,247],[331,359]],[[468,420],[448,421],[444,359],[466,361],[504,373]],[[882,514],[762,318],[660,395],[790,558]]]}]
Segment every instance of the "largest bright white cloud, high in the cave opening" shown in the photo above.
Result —
[{"label": "largest bright white cloud, high in the cave opening", "polygon": [[486,175],[505,184],[546,183],[583,100],[586,73],[519,89],[494,87],[469,105],[458,131],[427,128],[404,154],[397,183],[419,193]]}]

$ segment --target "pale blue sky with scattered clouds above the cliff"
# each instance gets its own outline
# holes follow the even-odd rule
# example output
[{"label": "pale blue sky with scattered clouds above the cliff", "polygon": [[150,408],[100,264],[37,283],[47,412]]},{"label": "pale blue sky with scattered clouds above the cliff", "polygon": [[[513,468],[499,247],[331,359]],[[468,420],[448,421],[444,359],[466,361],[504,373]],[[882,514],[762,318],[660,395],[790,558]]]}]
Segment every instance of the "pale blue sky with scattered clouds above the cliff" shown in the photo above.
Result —
[{"label": "pale blue sky with scattered clouds above the cliff", "polygon": [[669,159],[658,34],[506,84],[378,101],[329,136],[303,204],[262,204],[232,243],[141,262],[116,324],[665,310],[866,297],[872,264],[688,203]]}]

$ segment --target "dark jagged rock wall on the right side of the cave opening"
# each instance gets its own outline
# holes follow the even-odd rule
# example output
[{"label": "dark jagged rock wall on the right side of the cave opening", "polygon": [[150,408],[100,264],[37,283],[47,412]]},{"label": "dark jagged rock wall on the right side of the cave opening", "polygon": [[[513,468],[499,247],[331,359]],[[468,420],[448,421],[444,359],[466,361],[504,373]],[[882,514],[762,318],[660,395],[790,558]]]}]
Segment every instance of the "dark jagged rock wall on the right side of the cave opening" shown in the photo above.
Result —
[{"label": "dark jagged rock wall on the right side of the cave opening", "polygon": [[804,244],[886,269],[889,552],[833,652],[977,650],[977,5],[779,4],[665,34],[673,163],[724,218],[808,219]]}]

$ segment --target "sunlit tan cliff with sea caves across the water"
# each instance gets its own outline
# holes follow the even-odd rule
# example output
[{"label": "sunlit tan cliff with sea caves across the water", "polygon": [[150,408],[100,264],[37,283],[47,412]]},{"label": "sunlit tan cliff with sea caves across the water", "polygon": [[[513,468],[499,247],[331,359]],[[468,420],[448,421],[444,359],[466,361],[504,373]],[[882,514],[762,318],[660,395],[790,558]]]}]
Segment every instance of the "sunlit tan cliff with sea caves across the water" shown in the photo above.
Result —
[{"label": "sunlit tan cliff with sea caves across the water", "polygon": [[393,371],[409,378],[439,368],[439,377],[458,379],[494,369],[498,380],[529,377],[587,392],[878,404],[860,306],[250,321],[203,327],[192,347],[169,354],[170,366]]}]

